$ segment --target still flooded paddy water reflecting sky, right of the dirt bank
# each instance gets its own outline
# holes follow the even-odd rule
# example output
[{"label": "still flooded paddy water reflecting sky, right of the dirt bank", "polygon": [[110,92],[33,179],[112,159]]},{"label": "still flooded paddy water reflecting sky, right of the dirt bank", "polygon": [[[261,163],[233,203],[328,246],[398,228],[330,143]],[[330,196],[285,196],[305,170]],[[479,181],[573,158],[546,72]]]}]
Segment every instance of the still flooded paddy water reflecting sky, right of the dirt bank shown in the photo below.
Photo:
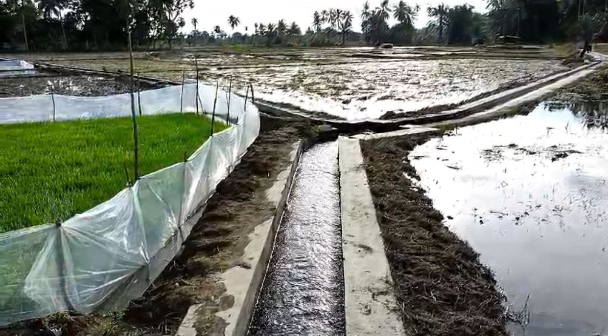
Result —
[{"label": "still flooded paddy water reflecting sky, right of the dirt bank", "polygon": [[607,107],[546,102],[410,154],[446,225],[520,313],[514,335],[608,334]]}]

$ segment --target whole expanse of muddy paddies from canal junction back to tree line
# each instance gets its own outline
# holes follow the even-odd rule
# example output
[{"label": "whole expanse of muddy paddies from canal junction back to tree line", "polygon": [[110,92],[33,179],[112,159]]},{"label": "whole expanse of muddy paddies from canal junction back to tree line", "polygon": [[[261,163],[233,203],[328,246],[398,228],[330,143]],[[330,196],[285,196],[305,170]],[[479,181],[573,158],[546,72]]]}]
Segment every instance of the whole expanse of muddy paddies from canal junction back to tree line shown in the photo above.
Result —
[{"label": "whole expanse of muddy paddies from canal junction back to tree line", "polygon": [[[264,49],[198,48],[136,53],[136,72],[181,82],[198,76],[227,86],[233,78],[256,98],[338,118],[379,118],[430,106],[458,104],[486,92],[519,86],[561,72],[565,51],[529,47]],[[19,55],[15,55],[19,56]],[[128,70],[126,53],[23,55],[60,66]],[[195,61],[196,58],[196,61]]]}]

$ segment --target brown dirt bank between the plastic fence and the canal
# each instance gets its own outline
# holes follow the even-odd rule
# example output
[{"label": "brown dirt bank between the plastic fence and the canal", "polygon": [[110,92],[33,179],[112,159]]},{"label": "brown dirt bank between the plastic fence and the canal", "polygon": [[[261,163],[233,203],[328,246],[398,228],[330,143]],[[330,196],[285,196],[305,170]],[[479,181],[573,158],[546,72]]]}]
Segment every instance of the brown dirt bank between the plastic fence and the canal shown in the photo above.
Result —
[{"label": "brown dirt bank between the plastic fence and the canal", "polygon": [[[241,262],[247,236],[275,210],[264,198],[264,191],[289,166],[292,147],[288,144],[298,141],[309,129],[294,124],[285,126],[281,121],[263,119],[264,133],[219,184],[184,243],[184,252],[127,309],[103,316],[54,314],[0,330],[0,336],[168,335],[177,331],[192,304],[203,304],[202,309],[208,313],[203,315],[210,317],[232,306],[233,298],[224,295],[226,289],[217,275],[230,267],[251,267]],[[196,325],[200,335],[223,334],[225,327],[224,321],[213,318]]]}]

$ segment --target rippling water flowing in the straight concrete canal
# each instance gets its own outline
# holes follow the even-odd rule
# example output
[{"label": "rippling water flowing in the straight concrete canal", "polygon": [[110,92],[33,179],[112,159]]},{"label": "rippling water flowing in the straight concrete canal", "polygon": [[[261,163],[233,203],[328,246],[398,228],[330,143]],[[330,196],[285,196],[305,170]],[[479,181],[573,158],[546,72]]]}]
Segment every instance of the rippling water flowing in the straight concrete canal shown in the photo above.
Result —
[{"label": "rippling water flowing in the straight concrete canal", "polygon": [[249,335],[344,335],[337,141],[300,158]]}]

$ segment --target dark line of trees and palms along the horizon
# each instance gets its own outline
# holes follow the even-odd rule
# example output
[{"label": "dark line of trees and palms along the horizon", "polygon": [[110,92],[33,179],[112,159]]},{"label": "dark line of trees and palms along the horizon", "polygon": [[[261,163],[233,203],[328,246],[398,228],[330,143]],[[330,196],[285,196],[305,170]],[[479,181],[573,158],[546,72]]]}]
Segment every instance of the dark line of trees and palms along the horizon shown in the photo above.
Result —
[{"label": "dark line of trees and palms along the horizon", "polygon": [[[235,32],[240,18],[229,16],[232,33],[215,25],[211,32],[192,32],[182,14],[193,0],[0,0],[0,48],[25,45],[29,50],[124,49],[128,30],[133,44],[156,49],[179,45],[466,45],[492,41],[497,35],[517,36],[528,43],[593,39],[604,36],[608,0],[486,0],[488,12],[469,4],[438,4],[427,8],[431,20],[422,29],[414,23],[420,6],[406,1],[365,2],[360,13],[340,8],[317,10],[302,32],[285,20],[254,25]],[[354,31],[355,15],[361,18]],[[389,25],[390,18],[396,24]]]}]

